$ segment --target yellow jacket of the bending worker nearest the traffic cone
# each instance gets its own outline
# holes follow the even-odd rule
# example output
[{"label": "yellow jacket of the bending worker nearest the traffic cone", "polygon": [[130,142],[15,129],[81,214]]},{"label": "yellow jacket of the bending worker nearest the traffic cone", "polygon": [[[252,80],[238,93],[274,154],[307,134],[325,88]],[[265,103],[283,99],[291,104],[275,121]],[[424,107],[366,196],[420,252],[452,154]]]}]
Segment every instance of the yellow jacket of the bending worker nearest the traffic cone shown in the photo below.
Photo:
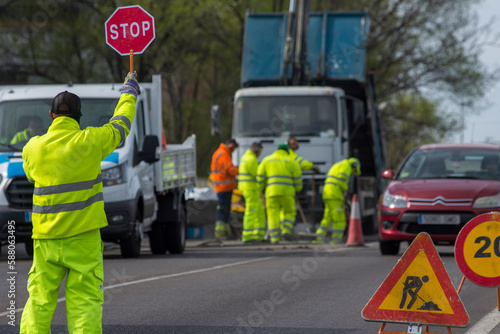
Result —
[{"label": "yellow jacket of the bending worker nearest the traffic cone", "polygon": [[349,179],[352,173],[353,169],[348,159],[334,164],[325,179],[323,198],[344,200],[344,193],[349,187]]}]

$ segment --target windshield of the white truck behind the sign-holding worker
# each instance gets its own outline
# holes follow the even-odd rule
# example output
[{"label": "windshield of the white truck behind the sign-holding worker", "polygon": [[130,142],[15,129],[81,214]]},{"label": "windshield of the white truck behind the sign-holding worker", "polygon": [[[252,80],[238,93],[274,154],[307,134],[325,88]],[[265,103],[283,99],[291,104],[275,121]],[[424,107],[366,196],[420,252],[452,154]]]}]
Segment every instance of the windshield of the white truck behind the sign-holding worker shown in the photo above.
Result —
[{"label": "windshield of the white truck behind the sign-holding worker", "polygon": [[[113,116],[118,99],[82,99],[80,128],[102,126]],[[29,138],[47,132],[52,100],[0,103],[0,152],[21,151]]]}]

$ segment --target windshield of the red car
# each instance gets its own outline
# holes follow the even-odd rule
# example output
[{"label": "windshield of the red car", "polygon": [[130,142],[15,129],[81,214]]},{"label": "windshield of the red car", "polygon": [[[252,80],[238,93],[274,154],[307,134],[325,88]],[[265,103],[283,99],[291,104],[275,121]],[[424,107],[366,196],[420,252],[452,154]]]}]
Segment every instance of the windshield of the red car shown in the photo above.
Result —
[{"label": "windshield of the red car", "polygon": [[416,150],[396,179],[462,178],[500,180],[500,152],[483,149]]}]

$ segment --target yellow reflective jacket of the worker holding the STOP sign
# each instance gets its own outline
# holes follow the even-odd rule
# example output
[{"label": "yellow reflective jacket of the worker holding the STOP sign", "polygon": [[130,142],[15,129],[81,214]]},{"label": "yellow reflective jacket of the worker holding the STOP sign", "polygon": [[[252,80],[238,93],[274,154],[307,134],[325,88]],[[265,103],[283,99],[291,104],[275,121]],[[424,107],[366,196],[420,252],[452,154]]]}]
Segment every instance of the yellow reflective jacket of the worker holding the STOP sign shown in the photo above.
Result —
[{"label": "yellow reflective jacket of the worker holding the STOP sign", "polygon": [[67,238],[105,227],[101,161],[125,140],[136,98],[122,94],[108,124],[80,130],[73,118],[55,118],[47,133],[23,149],[33,193],[33,239]]}]

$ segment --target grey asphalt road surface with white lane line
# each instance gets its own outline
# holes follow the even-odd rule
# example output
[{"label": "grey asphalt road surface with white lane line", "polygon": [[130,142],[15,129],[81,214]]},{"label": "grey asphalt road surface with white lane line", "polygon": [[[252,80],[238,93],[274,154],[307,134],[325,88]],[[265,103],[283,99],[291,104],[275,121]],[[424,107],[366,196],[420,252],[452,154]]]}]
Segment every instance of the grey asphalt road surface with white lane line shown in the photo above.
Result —
[{"label": "grey asphalt road surface with white lane line", "polygon": [[[27,299],[31,260],[16,250],[15,275],[8,274],[2,247],[0,333],[18,333]],[[452,247],[438,247],[452,283],[462,273]],[[365,247],[316,246],[305,241],[278,246],[243,246],[240,242],[202,245],[190,241],[182,255],[151,255],[147,243],[136,259],[123,259],[119,249],[105,249],[104,333],[377,333],[381,323],[365,321],[361,311],[400,256],[381,256],[376,242]],[[66,333],[64,291],[53,318],[52,333]],[[460,298],[471,328],[496,308],[495,290],[465,282]],[[14,324],[8,305],[15,301]],[[492,329],[497,333],[500,327]],[[406,324],[385,330],[406,331]],[[431,327],[446,332],[445,327]],[[497,330],[497,332],[495,332]],[[479,333],[479,332],[478,332]],[[481,333],[488,333],[482,330]]]}]

